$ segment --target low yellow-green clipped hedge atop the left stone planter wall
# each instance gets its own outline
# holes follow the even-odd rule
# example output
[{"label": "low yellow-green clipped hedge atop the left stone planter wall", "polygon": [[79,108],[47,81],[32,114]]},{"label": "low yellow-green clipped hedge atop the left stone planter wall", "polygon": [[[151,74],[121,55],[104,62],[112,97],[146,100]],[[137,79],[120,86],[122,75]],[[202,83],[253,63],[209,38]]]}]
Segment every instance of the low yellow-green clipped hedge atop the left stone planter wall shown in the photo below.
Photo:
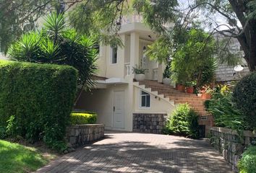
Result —
[{"label": "low yellow-green clipped hedge atop the left stone planter wall", "polygon": [[95,113],[72,112],[71,114],[72,125],[95,124],[96,120],[97,115]]}]

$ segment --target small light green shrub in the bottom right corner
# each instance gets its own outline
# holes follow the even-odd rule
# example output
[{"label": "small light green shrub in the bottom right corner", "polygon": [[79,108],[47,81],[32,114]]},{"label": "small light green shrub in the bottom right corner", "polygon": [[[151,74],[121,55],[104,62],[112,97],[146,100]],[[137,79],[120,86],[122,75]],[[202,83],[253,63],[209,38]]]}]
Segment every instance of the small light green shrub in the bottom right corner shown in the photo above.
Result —
[{"label": "small light green shrub in the bottom right corner", "polygon": [[239,161],[241,173],[256,172],[256,146],[249,146]]}]

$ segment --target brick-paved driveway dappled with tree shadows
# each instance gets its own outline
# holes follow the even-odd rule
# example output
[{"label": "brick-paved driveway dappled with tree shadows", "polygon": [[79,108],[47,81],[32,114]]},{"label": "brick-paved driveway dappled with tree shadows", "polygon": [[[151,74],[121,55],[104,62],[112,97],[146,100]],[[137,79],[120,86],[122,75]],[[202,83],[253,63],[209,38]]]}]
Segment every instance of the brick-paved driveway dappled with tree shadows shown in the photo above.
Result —
[{"label": "brick-paved driveway dappled with tree shadows", "polygon": [[145,133],[106,138],[53,161],[38,172],[231,172],[205,141]]}]

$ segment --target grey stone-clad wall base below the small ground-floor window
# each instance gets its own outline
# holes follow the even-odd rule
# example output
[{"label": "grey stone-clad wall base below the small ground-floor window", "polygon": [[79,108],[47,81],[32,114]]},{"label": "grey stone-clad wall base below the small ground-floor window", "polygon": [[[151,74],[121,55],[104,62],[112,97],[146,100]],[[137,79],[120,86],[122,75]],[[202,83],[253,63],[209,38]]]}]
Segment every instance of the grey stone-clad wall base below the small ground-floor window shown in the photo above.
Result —
[{"label": "grey stone-clad wall base below the small ground-floor window", "polygon": [[133,131],[144,133],[162,133],[167,114],[133,114]]}]

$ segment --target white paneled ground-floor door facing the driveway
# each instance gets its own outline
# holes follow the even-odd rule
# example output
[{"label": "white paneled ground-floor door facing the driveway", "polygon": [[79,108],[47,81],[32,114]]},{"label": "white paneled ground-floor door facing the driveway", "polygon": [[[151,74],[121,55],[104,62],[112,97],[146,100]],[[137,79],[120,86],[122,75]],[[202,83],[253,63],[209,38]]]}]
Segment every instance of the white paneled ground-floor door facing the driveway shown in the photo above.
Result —
[{"label": "white paneled ground-floor door facing the driveway", "polygon": [[114,92],[114,128],[124,128],[124,91]]}]

